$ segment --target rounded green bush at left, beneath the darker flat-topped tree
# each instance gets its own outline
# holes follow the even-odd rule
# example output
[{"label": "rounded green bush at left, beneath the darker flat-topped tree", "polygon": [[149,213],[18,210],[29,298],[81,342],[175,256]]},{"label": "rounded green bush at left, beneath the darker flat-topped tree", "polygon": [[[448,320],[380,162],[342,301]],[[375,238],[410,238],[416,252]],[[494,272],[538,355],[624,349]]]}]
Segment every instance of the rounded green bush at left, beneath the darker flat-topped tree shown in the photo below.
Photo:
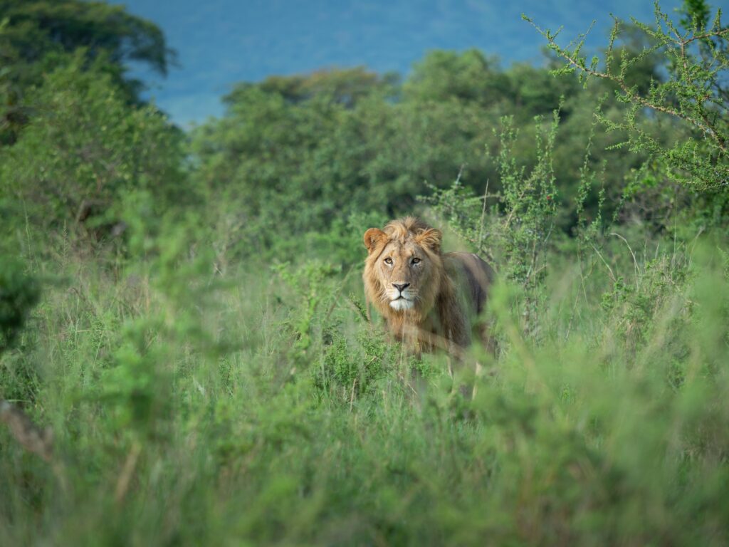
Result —
[{"label": "rounded green bush at left, beneath the darker flat-topped tree", "polygon": [[29,221],[43,233],[100,238],[119,222],[121,196],[132,189],[149,190],[158,210],[187,197],[179,134],[152,106],[127,106],[103,71],[82,68],[84,57],[29,93],[33,119],[0,150],[6,229]]}]

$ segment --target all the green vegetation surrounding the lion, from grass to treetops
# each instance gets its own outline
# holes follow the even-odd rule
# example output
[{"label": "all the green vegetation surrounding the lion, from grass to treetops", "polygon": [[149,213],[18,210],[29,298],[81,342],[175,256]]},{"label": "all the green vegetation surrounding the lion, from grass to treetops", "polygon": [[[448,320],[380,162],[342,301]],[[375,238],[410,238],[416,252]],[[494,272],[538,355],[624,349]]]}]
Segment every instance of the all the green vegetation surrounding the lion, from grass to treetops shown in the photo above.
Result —
[{"label": "all the green vegetation surrounding the lion, from grass to treetops", "polygon": [[[241,83],[189,134],[124,76],[153,23],[0,19],[0,544],[728,543],[720,12]],[[413,212],[494,264],[495,355],[368,317],[362,233]]]}]

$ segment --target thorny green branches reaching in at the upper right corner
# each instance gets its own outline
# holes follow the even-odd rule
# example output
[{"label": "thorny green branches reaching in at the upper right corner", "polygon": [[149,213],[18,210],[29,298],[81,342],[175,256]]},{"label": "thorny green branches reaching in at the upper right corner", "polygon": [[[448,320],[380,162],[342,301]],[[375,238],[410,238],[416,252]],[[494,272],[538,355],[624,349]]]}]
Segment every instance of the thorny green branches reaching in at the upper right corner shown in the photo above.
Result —
[{"label": "thorny green branches reaching in at the upper right corner", "polygon": [[[655,26],[634,21],[650,41],[635,55],[625,47],[615,55],[615,39],[621,30],[620,22],[615,20],[604,68],[600,68],[599,58],[588,63],[581,52],[585,36],[574,47],[564,48],[555,41],[555,33],[536,27],[550,49],[567,62],[558,73],[577,71],[585,85],[590,79],[604,79],[616,86],[617,100],[627,104],[628,109],[622,120],[604,115],[600,120],[608,131],[628,133],[628,140],[617,146],[660,158],[671,179],[698,190],[726,187],[729,179],[729,102],[725,93],[729,29],[722,27],[721,10],[709,24],[708,9],[703,2],[689,2],[683,26],[679,27],[655,4]],[[647,87],[638,85],[631,79],[631,71],[639,71],[655,55],[661,55],[667,77],[651,78]],[[650,109],[659,119],[667,117],[679,123],[687,135],[673,144],[664,144],[642,124],[644,109]]]}]

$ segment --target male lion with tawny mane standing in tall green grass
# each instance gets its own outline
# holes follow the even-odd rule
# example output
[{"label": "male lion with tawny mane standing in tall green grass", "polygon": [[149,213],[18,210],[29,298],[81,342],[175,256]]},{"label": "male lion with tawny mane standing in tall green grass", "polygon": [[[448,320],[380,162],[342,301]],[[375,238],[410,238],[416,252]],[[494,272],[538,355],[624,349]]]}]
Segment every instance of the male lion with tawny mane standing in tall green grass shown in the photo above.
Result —
[{"label": "male lion with tawny mane standing in tall green grass", "polygon": [[364,233],[364,292],[389,330],[416,353],[468,346],[494,271],[477,255],[440,252],[440,230],[405,217]]}]

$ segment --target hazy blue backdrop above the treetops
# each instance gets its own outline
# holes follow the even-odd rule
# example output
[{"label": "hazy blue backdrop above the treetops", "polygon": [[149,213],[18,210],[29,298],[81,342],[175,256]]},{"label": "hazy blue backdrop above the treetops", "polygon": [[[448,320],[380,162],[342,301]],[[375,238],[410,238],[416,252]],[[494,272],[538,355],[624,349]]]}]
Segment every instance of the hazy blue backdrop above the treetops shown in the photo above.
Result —
[{"label": "hazy blue backdrop above the treetops", "polygon": [[[717,7],[727,0],[711,4]],[[428,50],[477,47],[513,61],[541,63],[539,26],[566,39],[596,25],[588,41],[601,47],[610,14],[653,20],[652,0],[127,0],[129,11],[154,21],[177,50],[166,79],[142,73],[148,95],[181,125],[222,114],[220,98],[235,82],[332,66],[364,65],[407,74]],[[673,12],[679,0],[661,1]]]}]

